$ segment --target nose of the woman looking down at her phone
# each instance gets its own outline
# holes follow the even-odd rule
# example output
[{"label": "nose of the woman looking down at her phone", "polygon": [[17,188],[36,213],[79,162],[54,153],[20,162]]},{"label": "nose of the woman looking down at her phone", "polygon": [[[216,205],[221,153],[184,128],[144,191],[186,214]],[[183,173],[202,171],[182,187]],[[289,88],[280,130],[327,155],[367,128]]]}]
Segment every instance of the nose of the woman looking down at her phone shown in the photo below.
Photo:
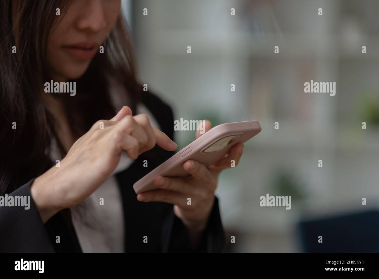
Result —
[{"label": "nose of the woman looking down at her phone", "polygon": [[77,20],[77,28],[88,32],[99,32],[106,27],[102,0],[85,0]]}]

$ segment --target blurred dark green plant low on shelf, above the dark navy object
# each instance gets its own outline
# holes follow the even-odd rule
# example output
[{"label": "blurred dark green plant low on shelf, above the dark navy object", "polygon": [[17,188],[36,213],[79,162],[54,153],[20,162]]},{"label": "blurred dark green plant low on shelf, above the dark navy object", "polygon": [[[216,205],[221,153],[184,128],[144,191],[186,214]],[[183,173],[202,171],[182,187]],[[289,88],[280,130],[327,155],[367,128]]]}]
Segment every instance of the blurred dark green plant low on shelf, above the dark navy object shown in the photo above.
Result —
[{"label": "blurred dark green plant low on shelf, above the dark navy object", "polygon": [[273,195],[291,196],[291,202],[294,204],[302,202],[306,197],[301,183],[288,170],[279,169],[274,172],[271,188],[274,190]]}]

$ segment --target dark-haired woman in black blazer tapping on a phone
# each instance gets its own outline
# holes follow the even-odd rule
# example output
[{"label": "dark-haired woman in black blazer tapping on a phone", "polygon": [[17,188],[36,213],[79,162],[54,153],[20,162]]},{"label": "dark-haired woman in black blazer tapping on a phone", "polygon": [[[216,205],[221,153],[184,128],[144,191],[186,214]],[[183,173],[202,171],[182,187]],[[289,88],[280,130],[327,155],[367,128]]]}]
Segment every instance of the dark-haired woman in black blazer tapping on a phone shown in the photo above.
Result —
[{"label": "dark-haired woman in black blazer tapping on a phone", "polygon": [[[186,161],[188,178],[157,177],[157,191],[133,191],[177,145],[171,109],[136,81],[120,5],[1,4],[0,190],[30,196],[28,210],[0,207],[1,252],[222,249],[214,192],[242,144],[210,167]],[[50,82],[75,93],[53,92]]]}]

